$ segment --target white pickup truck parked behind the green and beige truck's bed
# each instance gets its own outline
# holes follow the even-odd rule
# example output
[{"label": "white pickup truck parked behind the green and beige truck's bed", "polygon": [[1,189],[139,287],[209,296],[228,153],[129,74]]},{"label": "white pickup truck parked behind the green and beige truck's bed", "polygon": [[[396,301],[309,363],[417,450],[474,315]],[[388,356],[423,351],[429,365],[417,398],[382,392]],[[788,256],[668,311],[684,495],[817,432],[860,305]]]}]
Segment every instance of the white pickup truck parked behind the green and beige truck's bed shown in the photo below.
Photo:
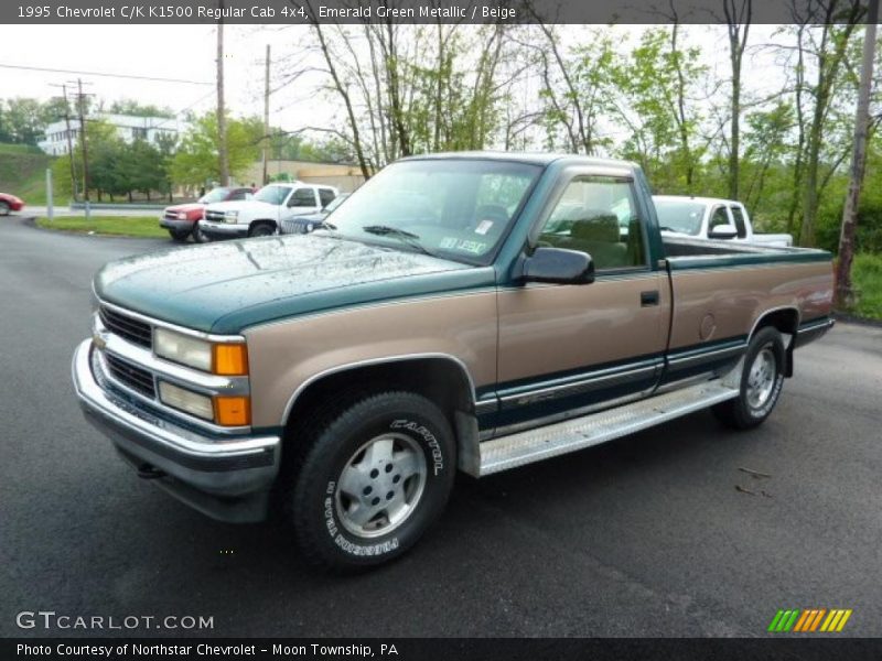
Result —
[{"label": "white pickup truck parked behind the green and beige truck's bed", "polygon": [[740,202],[680,195],[654,195],[653,202],[663,235],[727,239],[784,248],[793,246],[790,235],[754,232],[747,209]]}]

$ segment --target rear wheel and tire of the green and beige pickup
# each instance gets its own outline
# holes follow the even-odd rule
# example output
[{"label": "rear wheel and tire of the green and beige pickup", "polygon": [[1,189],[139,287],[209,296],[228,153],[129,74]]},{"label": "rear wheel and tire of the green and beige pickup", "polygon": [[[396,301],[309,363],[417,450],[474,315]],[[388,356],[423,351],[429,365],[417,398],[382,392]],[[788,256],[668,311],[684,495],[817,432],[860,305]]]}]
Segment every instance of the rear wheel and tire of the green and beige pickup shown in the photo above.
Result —
[{"label": "rear wheel and tire of the green and beige pickup", "polygon": [[718,420],[735,430],[762,424],[781,397],[785,360],[784,342],[777,329],[761,328],[744,355],[739,395],[711,409]]}]

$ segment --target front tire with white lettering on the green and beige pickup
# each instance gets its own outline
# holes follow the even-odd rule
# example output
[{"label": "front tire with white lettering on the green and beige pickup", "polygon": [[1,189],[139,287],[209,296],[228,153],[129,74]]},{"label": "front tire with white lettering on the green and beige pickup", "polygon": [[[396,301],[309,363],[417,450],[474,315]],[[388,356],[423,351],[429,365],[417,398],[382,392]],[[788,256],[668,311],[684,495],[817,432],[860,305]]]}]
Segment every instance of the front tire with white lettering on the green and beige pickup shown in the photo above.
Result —
[{"label": "front tire with white lettering on the green and beige pickup", "polygon": [[348,402],[301,427],[283,474],[303,555],[336,572],[410,549],[444,509],[456,470],[450,423],[424,397],[390,391]]}]

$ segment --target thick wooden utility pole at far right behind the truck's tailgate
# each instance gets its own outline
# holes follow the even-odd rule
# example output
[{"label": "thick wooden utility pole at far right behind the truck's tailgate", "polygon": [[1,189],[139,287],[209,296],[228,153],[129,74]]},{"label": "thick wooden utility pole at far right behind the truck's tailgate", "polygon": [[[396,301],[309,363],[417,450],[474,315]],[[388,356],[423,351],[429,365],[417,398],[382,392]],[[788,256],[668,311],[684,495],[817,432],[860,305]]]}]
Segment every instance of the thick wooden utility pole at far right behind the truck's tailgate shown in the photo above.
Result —
[{"label": "thick wooden utility pole at far right behind the truck's tailgate", "polygon": [[867,133],[870,128],[870,87],[873,79],[875,55],[875,24],[879,21],[879,0],[870,0],[867,8],[867,28],[863,33],[863,64],[858,90],[858,110],[854,117],[854,151],[851,156],[851,181],[842,210],[842,229],[839,235],[839,260],[836,264],[836,305],[850,307],[853,303],[851,290],[851,263],[854,260],[854,234],[858,229],[858,203],[863,187],[867,165]]}]

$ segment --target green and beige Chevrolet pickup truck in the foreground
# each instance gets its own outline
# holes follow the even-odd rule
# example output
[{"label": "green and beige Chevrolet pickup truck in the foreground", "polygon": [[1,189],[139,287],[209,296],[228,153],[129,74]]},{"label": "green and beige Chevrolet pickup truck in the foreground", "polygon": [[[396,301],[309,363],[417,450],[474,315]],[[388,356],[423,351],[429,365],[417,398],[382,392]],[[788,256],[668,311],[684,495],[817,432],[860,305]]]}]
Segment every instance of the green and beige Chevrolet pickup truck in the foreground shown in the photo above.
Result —
[{"label": "green and beige Chevrolet pickup truck in the foreground", "polygon": [[626,162],[410,158],[330,220],[107,264],[73,378],[140,476],[331,568],[404,553],[458,469],[753,427],[832,325],[829,253],[663,237]]}]

